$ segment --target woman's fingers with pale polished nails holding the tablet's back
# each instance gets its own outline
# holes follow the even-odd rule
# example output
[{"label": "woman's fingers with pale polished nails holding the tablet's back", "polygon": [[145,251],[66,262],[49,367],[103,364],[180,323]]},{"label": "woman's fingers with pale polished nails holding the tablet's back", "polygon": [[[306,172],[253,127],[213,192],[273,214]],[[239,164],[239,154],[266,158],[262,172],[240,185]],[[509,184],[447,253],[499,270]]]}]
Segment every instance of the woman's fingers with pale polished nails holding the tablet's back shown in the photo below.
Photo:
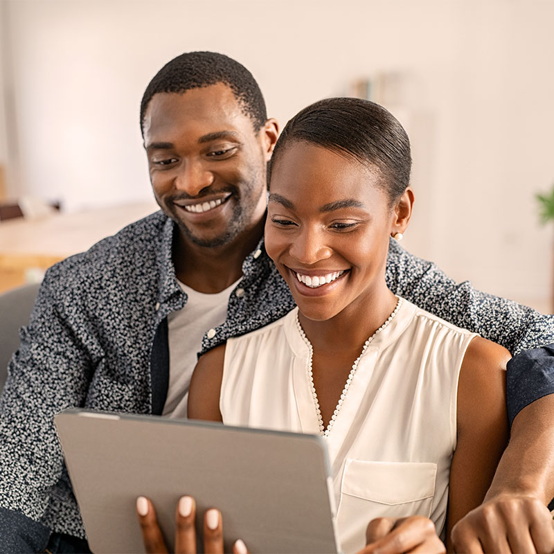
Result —
[{"label": "woman's fingers with pale polished nails holding the tablet's back", "polygon": [[[136,499],[136,513],[143,533],[147,554],[167,554],[156,510],[148,498]],[[175,554],[196,554],[196,503],[192,497],[182,497],[175,510]],[[220,510],[211,508],[204,514],[204,550],[206,554],[223,554],[223,523]],[[248,554],[242,540],[233,544],[233,554]]]}]

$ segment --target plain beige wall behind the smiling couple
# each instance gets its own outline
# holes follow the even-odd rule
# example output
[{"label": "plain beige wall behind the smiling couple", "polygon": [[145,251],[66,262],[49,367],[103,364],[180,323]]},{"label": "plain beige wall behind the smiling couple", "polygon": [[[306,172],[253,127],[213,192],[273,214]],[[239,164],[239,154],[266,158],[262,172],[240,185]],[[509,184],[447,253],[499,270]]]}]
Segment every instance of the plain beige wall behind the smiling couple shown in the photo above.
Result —
[{"label": "plain beige wall behind the smiling couple", "polygon": [[552,229],[538,226],[533,195],[554,183],[554,2],[3,2],[23,193],[70,211],[149,198],[139,102],[183,51],[244,63],[282,123],[354,80],[397,73],[382,99],[413,143],[406,247],[546,307]]}]

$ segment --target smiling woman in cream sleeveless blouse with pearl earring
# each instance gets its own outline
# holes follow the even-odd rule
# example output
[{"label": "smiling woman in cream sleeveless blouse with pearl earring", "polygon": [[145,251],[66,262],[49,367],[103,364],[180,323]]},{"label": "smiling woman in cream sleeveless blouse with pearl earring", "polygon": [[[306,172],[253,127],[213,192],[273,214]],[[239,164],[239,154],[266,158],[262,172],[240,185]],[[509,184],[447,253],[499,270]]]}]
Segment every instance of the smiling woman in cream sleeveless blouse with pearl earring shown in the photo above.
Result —
[{"label": "smiling woman in cream sleeveless blouse with pearl earring", "polygon": [[265,247],[298,307],[206,353],[190,384],[190,418],[326,437],[346,553],[380,516],[423,515],[449,537],[507,438],[508,351],[386,287],[410,169],[404,129],[373,102],[292,118],[269,168]]}]

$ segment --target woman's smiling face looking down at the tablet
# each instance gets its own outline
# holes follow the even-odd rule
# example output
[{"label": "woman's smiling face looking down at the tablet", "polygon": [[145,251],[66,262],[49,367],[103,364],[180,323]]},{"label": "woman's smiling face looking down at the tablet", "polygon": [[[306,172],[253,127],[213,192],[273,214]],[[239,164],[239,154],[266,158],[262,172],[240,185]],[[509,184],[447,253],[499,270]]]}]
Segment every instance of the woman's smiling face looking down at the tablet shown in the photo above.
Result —
[{"label": "woman's smiling face looking down at the tablet", "polygon": [[308,319],[354,315],[386,290],[388,238],[398,229],[378,177],[377,168],[298,141],[272,169],[265,247]]}]

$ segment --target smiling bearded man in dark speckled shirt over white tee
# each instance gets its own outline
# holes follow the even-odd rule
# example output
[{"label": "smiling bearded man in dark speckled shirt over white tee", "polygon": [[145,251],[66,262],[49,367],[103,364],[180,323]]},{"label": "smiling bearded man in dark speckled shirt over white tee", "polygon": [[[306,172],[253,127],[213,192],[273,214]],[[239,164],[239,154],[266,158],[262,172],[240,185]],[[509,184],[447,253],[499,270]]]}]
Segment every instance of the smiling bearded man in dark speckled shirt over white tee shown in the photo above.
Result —
[{"label": "smiling bearded man in dark speckled shirt over white tee", "polygon": [[[175,58],[145,91],[141,129],[162,211],[49,269],[10,362],[0,401],[2,551],[39,551],[47,543],[51,552],[87,548],[55,413],[87,406],[184,415],[197,351],[293,307],[262,242],[265,169],[278,127],[249,71],[219,54]],[[396,294],[512,352],[554,341],[552,318],[456,285],[395,243],[387,280]],[[529,357],[516,362],[528,375]],[[548,361],[548,375],[553,365]],[[554,471],[541,456],[554,446],[554,396],[533,400],[551,392],[542,386],[517,406],[523,409],[488,503],[502,524],[515,521],[513,513],[519,522],[548,519]],[[525,457],[537,422],[541,442]],[[524,471],[506,469],[514,460],[519,469],[526,461]],[[470,515],[464,540],[474,540],[487,514]]]}]

